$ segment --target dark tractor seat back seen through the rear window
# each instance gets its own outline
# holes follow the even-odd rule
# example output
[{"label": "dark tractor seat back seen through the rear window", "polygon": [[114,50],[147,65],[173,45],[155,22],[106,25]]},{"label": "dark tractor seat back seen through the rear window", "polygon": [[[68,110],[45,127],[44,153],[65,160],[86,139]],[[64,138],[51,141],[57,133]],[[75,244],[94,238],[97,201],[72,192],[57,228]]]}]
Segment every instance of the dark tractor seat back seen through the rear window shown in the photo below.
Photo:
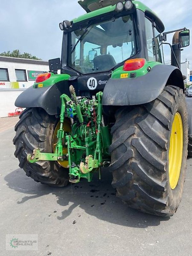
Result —
[{"label": "dark tractor seat back seen through the rear window", "polygon": [[111,54],[98,55],[93,59],[94,68],[100,71],[107,71],[117,65]]}]

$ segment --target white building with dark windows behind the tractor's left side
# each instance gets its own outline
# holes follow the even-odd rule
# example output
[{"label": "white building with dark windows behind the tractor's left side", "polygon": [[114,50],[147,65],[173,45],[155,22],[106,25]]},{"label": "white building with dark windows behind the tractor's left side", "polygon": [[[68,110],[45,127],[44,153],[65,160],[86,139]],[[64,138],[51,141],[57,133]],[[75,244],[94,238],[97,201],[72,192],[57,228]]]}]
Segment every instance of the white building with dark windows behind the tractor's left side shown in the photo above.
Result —
[{"label": "white building with dark windows behind the tractor's left side", "polygon": [[47,61],[0,56],[0,117],[15,112],[19,94],[34,84],[36,76],[48,71]]}]

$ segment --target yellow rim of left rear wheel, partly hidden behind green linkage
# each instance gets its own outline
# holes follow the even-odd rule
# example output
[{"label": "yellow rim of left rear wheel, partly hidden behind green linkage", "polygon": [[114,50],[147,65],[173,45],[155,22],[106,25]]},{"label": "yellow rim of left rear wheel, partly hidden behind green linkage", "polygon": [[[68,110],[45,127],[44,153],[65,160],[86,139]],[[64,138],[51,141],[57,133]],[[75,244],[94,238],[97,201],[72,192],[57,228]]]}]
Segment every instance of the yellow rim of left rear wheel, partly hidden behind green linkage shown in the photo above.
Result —
[{"label": "yellow rim of left rear wheel, partly hidden behind green linkage", "polygon": [[[53,138],[52,138],[52,148],[53,152],[55,152],[55,147],[57,145],[57,131],[60,129],[60,122],[56,125],[55,130],[53,132]],[[70,121],[68,119],[65,119],[64,124],[63,124],[63,130],[64,132],[71,132],[71,125]],[[62,140],[63,144],[63,155],[67,154],[67,147],[65,146],[65,136]],[[62,167],[68,168],[68,161],[57,161]]]}]

